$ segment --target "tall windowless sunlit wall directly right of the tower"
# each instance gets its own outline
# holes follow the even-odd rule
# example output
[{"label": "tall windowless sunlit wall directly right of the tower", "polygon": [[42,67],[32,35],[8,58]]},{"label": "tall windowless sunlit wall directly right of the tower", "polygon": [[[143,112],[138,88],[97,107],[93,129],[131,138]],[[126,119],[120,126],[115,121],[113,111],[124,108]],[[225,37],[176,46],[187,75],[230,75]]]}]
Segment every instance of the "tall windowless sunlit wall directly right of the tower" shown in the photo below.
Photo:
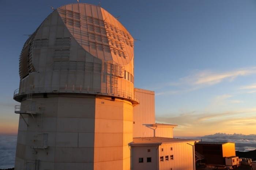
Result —
[{"label": "tall windowless sunlit wall directly right of the tower", "polygon": [[155,92],[135,88],[134,93],[140,104],[133,107],[133,138],[153,137],[154,130],[143,124],[155,123]]}]

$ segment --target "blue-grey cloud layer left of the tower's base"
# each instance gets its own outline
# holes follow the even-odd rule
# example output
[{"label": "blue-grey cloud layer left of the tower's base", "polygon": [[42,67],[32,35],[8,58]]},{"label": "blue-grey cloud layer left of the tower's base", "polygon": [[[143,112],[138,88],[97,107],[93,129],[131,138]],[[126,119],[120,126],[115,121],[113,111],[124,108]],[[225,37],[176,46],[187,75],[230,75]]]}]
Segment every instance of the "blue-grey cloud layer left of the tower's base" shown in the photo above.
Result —
[{"label": "blue-grey cloud layer left of the tower's base", "polygon": [[16,136],[0,135],[0,169],[14,167]]}]

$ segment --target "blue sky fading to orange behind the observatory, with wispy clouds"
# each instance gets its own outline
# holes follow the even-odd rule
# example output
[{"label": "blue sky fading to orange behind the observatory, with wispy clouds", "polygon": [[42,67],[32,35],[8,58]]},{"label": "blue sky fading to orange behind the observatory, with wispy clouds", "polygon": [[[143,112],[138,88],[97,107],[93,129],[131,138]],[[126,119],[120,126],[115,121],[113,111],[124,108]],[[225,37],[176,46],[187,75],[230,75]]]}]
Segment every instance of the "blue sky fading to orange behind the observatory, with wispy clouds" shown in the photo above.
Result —
[{"label": "blue sky fading to orange behind the observatory, with wispy clouds", "polygon": [[[52,12],[76,0],[0,0],[0,134],[15,135],[20,51]],[[80,0],[98,4],[99,0]],[[135,39],[135,87],[155,91],[174,135],[256,132],[255,0],[101,0]]]}]

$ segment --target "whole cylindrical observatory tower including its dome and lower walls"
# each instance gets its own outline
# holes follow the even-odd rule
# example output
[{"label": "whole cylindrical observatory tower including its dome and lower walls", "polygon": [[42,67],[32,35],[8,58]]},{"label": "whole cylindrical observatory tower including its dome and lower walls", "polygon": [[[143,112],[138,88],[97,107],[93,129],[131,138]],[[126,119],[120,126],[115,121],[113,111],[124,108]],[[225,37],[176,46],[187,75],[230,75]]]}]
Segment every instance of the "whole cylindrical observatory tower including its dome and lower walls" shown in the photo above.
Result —
[{"label": "whole cylindrical observatory tower including its dome and lower walls", "polygon": [[105,9],[54,10],[19,59],[16,170],[130,170],[133,38]]}]

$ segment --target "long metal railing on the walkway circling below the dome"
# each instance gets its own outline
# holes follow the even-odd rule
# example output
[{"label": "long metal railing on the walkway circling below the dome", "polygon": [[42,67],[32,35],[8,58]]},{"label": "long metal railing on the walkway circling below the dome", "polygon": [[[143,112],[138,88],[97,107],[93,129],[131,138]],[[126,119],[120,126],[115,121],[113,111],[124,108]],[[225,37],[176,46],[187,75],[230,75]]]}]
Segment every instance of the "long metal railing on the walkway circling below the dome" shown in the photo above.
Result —
[{"label": "long metal railing on the walkway circling below the dome", "polygon": [[[31,87],[27,89],[16,89],[14,91],[14,98],[19,95],[25,95],[28,94],[31,91]],[[80,86],[33,86],[32,92],[34,93],[56,93],[56,92],[67,92],[67,93],[82,93],[82,94],[98,94],[98,95],[107,95],[107,96],[113,96],[113,97],[120,97],[125,98],[129,100],[133,100],[134,102],[138,102],[138,98],[134,95],[134,92],[124,91],[124,90],[117,90],[116,88],[106,88],[106,87],[89,87],[87,88]]]}]

